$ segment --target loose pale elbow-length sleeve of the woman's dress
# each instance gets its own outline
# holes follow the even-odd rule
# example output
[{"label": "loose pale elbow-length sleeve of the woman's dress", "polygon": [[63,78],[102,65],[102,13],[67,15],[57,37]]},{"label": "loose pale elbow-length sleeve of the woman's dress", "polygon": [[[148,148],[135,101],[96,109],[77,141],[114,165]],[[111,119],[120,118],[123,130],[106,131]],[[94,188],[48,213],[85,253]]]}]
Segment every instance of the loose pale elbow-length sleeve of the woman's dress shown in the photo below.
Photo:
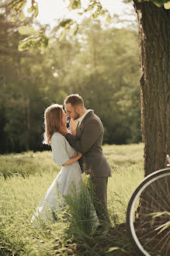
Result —
[{"label": "loose pale elbow-length sleeve of the woman's dress", "polygon": [[52,148],[52,157],[57,165],[63,165],[65,162],[68,162],[68,152],[66,148],[66,139],[60,133],[54,133],[51,137],[51,148]]}]

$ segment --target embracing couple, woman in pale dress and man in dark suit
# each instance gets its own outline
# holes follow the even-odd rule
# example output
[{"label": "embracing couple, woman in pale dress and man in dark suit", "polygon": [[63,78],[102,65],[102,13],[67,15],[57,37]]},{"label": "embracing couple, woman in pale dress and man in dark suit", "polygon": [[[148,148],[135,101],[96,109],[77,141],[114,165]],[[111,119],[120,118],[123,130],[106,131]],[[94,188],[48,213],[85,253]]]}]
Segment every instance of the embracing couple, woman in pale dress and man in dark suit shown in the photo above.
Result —
[{"label": "embracing couple, woman in pale dress and man in dark suit", "polygon": [[[102,153],[102,122],[92,109],[85,108],[79,94],[69,95],[64,100],[64,109],[54,104],[44,112],[43,143],[51,146],[53,160],[62,165],[62,169],[40,201],[31,222],[40,215],[48,218],[50,212],[56,211],[58,194],[64,203],[62,195],[71,194],[73,184],[78,187],[85,172],[92,180],[93,204],[100,226],[106,226],[109,224],[107,182],[111,169]],[[71,117],[71,132],[66,127],[68,116]]]}]

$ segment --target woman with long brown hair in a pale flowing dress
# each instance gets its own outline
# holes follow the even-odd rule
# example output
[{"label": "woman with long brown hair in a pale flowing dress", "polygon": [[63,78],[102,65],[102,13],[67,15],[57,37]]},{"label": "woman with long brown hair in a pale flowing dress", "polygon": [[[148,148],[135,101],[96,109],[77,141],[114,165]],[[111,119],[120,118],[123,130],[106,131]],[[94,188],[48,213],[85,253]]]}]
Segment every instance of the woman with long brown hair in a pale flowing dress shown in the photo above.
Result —
[{"label": "woman with long brown hair in a pale flowing dress", "polygon": [[43,200],[40,201],[31,219],[32,223],[34,223],[35,219],[42,220],[43,217],[55,219],[54,212],[59,204],[64,205],[64,197],[62,195],[73,194],[81,180],[82,173],[78,159],[82,157],[82,153],[71,148],[68,140],[61,135],[61,130],[65,129],[66,123],[67,116],[61,105],[50,105],[45,110],[43,144],[51,146],[53,160],[57,165],[62,165],[62,169],[50,185]]}]

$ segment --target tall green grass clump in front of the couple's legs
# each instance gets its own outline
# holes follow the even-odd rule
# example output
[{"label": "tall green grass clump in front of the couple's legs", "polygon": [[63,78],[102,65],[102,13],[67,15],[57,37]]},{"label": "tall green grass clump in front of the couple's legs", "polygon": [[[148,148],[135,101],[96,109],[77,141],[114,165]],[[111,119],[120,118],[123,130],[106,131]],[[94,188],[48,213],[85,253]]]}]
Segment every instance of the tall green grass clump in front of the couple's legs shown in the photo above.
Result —
[{"label": "tall green grass clump in front of the couple's legs", "polygon": [[70,229],[75,236],[89,235],[96,229],[98,219],[93,201],[93,188],[90,176],[82,174],[82,181],[78,189],[73,189],[73,195],[65,196],[68,204],[68,214],[71,216]]}]

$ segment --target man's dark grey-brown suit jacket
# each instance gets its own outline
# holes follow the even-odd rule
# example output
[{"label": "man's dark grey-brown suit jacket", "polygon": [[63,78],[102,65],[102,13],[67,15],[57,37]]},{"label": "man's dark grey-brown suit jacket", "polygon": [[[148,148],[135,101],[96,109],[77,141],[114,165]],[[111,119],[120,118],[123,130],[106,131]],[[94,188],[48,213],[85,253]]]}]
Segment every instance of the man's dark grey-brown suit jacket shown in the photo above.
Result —
[{"label": "man's dark grey-brown suit jacket", "polygon": [[111,176],[111,168],[106,156],[102,153],[103,133],[102,122],[92,110],[82,120],[76,137],[71,133],[65,136],[72,148],[82,152],[83,156],[79,159],[82,172],[89,173],[91,176]]}]

